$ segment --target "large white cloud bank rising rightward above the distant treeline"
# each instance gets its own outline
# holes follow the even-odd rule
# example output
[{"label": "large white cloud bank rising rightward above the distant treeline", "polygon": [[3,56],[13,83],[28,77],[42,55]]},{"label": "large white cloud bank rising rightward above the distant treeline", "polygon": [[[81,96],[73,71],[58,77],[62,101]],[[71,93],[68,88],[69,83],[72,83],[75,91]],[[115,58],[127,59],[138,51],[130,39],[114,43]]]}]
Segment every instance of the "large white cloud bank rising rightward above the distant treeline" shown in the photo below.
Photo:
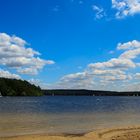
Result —
[{"label": "large white cloud bank rising rightward above the distant treeline", "polygon": [[[136,61],[140,55],[139,49],[140,42],[137,40],[119,43],[117,51],[121,54],[118,57],[105,62],[90,63],[82,72],[63,76],[53,88],[124,90],[129,82],[140,77],[138,72],[134,72],[140,67]],[[52,88],[51,85],[50,87]]]}]

